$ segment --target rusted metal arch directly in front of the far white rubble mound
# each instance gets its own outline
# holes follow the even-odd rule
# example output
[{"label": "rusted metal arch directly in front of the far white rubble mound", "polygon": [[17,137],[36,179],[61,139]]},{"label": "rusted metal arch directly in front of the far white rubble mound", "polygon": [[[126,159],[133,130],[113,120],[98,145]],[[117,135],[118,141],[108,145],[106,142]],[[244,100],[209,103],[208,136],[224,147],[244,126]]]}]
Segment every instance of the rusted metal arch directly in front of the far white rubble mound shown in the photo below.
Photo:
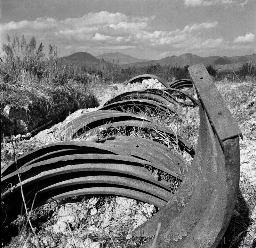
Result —
[{"label": "rusted metal arch directly in front of the far white rubble mound", "polygon": [[175,105],[179,103],[176,99],[174,99],[170,94],[166,93],[165,91],[155,89],[155,88],[150,88],[150,89],[144,89],[140,91],[127,91],[127,92],[121,93],[111,98],[110,100],[108,100],[104,104],[104,106],[114,102],[128,100],[128,99],[148,99],[150,101],[156,101],[166,105],[169,105],[169,104]]}]

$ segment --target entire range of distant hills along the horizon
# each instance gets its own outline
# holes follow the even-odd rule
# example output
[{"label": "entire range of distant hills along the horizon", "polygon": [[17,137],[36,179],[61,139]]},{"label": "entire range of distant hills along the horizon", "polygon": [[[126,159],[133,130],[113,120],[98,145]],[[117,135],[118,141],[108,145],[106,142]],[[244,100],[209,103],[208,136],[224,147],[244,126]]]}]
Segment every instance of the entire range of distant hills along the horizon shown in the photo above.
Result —
[{"label": "entire range of distant hills along the horizon", "polygon": [[197,55],[193,55],[191,53],[182,54],[179,56],[168,56],[159,60],[146,60],[146,59],[137,59],[129,55],[125,55],[122,53],[108,53],[99,56],[93,56],[86,52],[77,52],[69,56],[62,57],[62,60],[66,62],[75,62],[75,63],[83,63],[88,65],[99,65],[101,59],[109,62],[119,62],[122,67],[126,68],[129,66],[135,67],[143,67],[148,65],[156,65],[160,64],[169,65],[169,66],[178,66],[184,67],[186,65],[192,66],[198,63],[203,62],[205,66],[213,65],[220,66],[225,64],[234,64],[234,63],[244,63],[250,60],[251,55],[243,55],[243,56],[209,56],[209,57],[200,57]]}]

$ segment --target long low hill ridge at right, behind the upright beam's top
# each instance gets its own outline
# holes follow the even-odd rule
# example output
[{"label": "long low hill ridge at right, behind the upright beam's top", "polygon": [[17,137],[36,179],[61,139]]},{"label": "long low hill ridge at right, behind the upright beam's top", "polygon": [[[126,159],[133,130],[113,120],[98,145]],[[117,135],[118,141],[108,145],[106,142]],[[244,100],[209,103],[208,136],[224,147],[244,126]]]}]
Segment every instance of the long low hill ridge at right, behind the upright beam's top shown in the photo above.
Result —
[{"label": "long low hill ridge at right, behind the upright beam's top", "polygon": [[224,64],[233,64],[233,63],[244,63],[248,62],[250,59],[250,55],[244,55],[244,56],[234,56],[234,57],[221,57],[221,56],[209,56],[209,57],[200,57],[197,55],[193,55],[191,53],[182,54],[179,56],[168,56],[163,59],[159,60],[150,60],[147,62],[137,62],[132,64],[127,64],[124,67],[129,66],[135,66],[135,67],[142,67],[142,66],[148,66],[148,65],[169,65],[169,66],[178,66],[178,67],[184,67],[186,65],[192,66],[198,63],[204,63],[205,66],[207,65],[224,65]]}]

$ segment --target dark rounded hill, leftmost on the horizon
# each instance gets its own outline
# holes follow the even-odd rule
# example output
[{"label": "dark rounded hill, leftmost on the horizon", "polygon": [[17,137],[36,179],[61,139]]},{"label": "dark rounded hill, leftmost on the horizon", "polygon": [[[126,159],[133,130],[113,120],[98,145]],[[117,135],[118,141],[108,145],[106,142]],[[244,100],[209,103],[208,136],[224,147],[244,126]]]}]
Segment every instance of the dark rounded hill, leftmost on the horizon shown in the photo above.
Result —
[{"label": "dark rounded hill, leftmost on the horizon", "polygon": [[65,56],[60,59],[65,60],[66,62],[85,63],[85,64],[91,64],[91,65],[96,65],[100,63],[100,59],[97,59],[91,54],[86,52],[73,53],[69,56]]}]

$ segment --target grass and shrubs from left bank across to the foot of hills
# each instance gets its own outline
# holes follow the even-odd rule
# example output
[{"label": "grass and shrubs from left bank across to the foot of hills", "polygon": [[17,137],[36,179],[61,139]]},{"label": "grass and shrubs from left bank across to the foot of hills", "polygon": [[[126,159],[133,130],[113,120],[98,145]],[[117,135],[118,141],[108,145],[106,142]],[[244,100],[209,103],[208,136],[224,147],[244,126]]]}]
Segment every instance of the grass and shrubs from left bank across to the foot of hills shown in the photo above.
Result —
[{"label": "grass and shrubs from left bank across to the foot of hills", "polygon": [[[118,61],[104,60],[98,66],[67,63],[58,58],[57,48],[52,45],[45,55],[42,43],[37,46],[35,37],[27,43],[24,36],[21,40],[19,37],[11,40],[8,36],[3,51],[0,62],[1,137],[34,132],[49,122],[63,120],[76,109],[98,106],[92,95],[96,85],[123,83],[140,74],[154,74],[167,82],[190,78],[188,66],[150,64],[122,68]],[[84,54],[76,53],[72,58],[83,60]],[[251,62],[234,72],[218,72],[211,65],[207,67],[216,80],[228,78],[241,82],[255,77],[255,68]]]}]

